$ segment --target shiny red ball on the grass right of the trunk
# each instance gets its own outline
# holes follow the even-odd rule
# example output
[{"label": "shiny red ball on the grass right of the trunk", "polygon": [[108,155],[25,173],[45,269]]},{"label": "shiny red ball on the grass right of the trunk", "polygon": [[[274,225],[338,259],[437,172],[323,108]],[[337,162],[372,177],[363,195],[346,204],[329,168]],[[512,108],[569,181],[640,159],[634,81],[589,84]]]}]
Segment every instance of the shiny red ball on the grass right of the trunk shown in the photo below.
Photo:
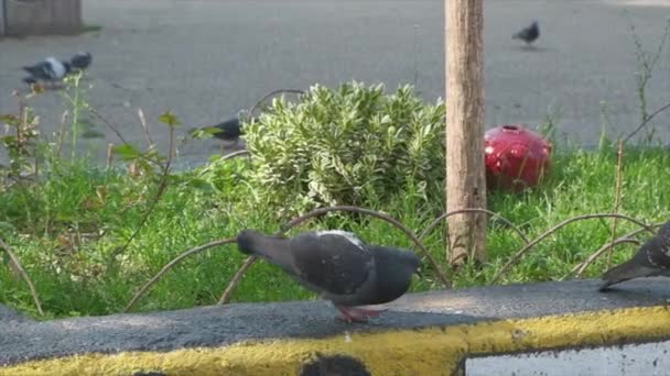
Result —
[{"label": "shiny red ball on the grass right of the trunk", "polygon": [[486,184],[521,191],[542,181],[550,169],[551,143],[521,125],[502,125],[484,134]]}]

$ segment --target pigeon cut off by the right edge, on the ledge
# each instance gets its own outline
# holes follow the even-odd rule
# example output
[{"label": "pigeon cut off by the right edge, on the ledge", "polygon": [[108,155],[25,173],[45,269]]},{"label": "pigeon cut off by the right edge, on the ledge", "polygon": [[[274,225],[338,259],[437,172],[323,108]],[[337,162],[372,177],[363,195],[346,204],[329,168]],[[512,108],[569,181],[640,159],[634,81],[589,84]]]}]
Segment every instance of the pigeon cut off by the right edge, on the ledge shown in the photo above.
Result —
[{"label": "pigeon cut off by the right edge, on the ledge", "polygon": [[615,266],[603,275],[601,291],[624,280],[638,277],[670,277],[670,222],[666,222],[656,236],[642,244],[631,259]]}]

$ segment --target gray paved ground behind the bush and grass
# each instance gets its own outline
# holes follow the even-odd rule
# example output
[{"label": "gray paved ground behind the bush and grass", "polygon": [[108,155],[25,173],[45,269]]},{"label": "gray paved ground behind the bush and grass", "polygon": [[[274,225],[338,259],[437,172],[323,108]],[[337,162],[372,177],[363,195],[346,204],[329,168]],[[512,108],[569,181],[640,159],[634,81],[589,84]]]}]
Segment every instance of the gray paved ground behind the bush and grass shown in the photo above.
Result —
[{"label": "gray paved ground behind the bush and grass", "polygon": [[[48,54],[77,49],[95,55],[89,101],[141,141],[137,108],[153,120],[154,137],[166,144],[155,118],[172,109],[188,125],[233,115],[280,87],[306,88],[358,79],[390,88],[417,84],[429,100],[443,96],[442,0],[86,0],[87,23],[100,32],[75,37],[0,41],[0,112],[15,109],[18,67]],[[487,125],[536,126],[560,112],[559,132],[594,144],[606,103],[616,135],[639,121],[635,57],[629,25],[647,49],[658,45],[670,0],[570,1],[486,0],[485,58]],[[540,21],[536,51],[510,35]],[[670,101],[670,48],[649,87],[649,107]],[[56,129],[62,100],[51,92],[35,102],[47,133]],[[670,114],[652,124],[663,142]],[[116,141],[99,121],[107,140]],[[107,141],[91,140],[96,158]],[[214,141],[181,147],[182,163],[217,151]]]}]

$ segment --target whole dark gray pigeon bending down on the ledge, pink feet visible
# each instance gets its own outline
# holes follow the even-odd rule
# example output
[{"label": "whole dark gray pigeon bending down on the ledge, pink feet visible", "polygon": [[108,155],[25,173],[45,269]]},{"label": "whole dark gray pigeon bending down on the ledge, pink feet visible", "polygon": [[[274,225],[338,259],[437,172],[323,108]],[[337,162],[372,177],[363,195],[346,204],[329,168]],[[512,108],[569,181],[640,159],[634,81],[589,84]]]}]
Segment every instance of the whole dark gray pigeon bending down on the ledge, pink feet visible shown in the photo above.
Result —
[{"label": "whole dark gray pigeon bending down on the ledge, pink feet visible", "polygon": [[267,259],[296,281],[331,300],[347,322],[366,322],[383,310],[357,308],[398,299],[410,287],[421,261],[404,250],[365,244],[355,234],[331,230],[294,237],[244,230],[240,252]]}]

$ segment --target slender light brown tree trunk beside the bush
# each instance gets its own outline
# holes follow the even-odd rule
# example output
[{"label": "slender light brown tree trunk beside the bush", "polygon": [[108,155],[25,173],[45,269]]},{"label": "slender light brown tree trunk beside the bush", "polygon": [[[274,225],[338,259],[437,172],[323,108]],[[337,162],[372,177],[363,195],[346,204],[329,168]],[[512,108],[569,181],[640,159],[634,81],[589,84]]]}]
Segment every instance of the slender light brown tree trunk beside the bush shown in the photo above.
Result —
[{"label": "slender light brown tree trunk beside the bush", "polygon": [[[446,210],[486,208],[483,0],[445,0],[444,9]],[[452,264],[486,261],[486,214],[450,217],[447,239]]]}]

